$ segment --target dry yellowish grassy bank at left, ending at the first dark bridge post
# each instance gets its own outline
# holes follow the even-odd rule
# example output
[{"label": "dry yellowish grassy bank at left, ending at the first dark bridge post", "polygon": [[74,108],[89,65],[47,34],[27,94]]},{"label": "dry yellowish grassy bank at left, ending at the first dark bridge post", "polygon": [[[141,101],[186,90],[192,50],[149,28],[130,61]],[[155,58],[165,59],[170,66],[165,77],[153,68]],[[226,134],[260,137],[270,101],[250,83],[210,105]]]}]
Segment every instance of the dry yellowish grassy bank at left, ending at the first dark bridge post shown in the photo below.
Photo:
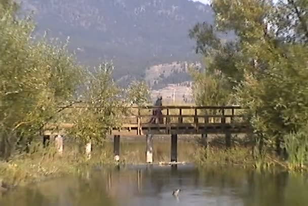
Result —
[{"label": "dry yellowish grassy bank at left, ending at the first dark bridge post", "polygon": [[77,174],[82,168],[95,165],[113,165],[109,151],[93,152],[91,159],[77,146],[66,146],[60,155],[54,147],[33,146],[23,155],[0,162],[0,180],[3,189],[38,182],[47,178]]}]

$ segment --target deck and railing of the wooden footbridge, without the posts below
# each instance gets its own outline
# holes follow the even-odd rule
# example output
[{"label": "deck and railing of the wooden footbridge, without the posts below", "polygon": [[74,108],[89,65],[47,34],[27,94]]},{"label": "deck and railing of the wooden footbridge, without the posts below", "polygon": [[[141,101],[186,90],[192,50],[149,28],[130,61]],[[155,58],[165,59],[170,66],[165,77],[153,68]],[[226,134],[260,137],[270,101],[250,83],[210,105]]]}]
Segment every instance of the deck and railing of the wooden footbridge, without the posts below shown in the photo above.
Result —
[{"label": "deck and railing of the wooden footbridge, without the posts below", "polygon": [[[149,123],[152,111],[161,108],[162,122]],[[129,122],[120,128],[112,128],[113,135],[143,134],[217,134],[246,132],[243,109],[236,106],[163,106],[131,107],[137,115],[125,117]]]}]

